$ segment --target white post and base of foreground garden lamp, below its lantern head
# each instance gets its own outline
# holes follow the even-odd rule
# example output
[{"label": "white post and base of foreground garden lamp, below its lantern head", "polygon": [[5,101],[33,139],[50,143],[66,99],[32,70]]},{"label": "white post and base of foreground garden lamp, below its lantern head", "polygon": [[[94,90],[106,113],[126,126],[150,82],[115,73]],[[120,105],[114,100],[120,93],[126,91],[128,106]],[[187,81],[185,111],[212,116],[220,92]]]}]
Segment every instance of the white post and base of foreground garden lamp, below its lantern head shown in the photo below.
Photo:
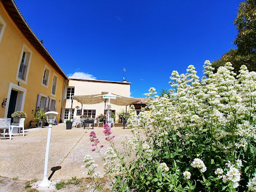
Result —
[{"label": "white post and base of foreground garden lamp, below its lantern head", "polygon": [[46,159],[45,159],[44,179],[39,184],[40,187],[48,187],[52,183],[47,178],[47,169],[48,169],[48,159],[49,159],[49,151],[50,151],[51,134],[52,134],[52,123],[49,123],[47,143],[46,143]]}]

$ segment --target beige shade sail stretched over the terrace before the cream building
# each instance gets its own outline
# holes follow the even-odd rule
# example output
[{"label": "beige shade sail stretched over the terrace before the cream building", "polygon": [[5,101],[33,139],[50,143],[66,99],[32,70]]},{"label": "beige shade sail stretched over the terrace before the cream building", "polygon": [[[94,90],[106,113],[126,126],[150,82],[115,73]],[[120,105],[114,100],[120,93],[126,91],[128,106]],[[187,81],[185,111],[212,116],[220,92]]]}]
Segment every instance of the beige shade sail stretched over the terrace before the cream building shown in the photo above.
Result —
[{"label": "beige shade sail stretched over the terrace before the cream building", "polygon": [[[103,95],[106,95],[106,94],[79,95],[79,96],[73,96],[73,99],[75,99],[81,104],[96,104],[101,102],[109,102],[109,99],[103,98]],[[111,95],[116,96],[116,99],[110,99],[110,103],[116,104],[116,105],[127,106],[140,101],[140,99],[136,99],[136,98],[123,97],[116,94],[111,94]]]}]

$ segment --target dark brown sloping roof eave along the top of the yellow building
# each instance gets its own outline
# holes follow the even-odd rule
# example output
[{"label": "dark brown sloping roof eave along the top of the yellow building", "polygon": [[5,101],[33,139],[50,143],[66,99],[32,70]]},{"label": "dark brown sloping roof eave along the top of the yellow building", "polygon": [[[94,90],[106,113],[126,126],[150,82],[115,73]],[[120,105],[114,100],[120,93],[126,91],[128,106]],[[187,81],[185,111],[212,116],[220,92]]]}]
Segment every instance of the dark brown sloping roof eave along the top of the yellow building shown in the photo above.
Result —
[{"label": "dark brown sloping roof eave along the top of the yellow building", "polygon": [[49,64],[57,71],[59,74],[68,79],[67,75],[61,70],[58,66],[57,62],[52,58],[50,53],[46,50],[46,48],[41,44],[38,37],[32,31],[22,13],[20,13],[16,3],[13,0],[5,0],[1,1],[5,10],[13,20],[14,24],[20,30],[20,32],[26,37],[26,39],[31,43],[31,45],[38,51],[38,53],[44,57]]}]

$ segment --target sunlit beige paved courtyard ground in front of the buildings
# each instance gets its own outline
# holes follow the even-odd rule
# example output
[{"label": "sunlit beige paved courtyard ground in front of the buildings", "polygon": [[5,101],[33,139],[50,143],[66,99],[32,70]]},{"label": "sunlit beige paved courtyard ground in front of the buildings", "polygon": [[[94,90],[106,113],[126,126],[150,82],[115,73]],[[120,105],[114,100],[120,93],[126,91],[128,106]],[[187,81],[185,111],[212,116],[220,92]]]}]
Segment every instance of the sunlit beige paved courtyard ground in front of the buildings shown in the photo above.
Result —
[{"label": "sunlit beige paved courtyard ground in front of the buildings", "polygon": [[[115,144],[120,145],[124,135],[132,137],[130,130],[123,130],[122,127],[111,128]],[[83,157],[87,154],[92,155],[99,165],[98,171],[103,173],[103,162],[96,152],[92,152],[92,143],[89,134],[95,131],[97,137],[104,148],[110,144],[105,141],[102,133],[103,127],[95,127],[94,130],[80,129],[74,127],[66,130],[66,124],[61,123],[53,126],[51,135],[51,146],[48,164],[48,177],[50,180],[71,179],[84,177],[81,168]],[[19,180],[32,180],[37,178],[42,180],[44,176],[45,152],[48,127],[42,129],[25,130],[25,137],[22,135],[4,139],[1,137],[0,146],[0,176]],[[54,170],[57,167],[57,170]],[[58,169],[59,168],[59,169]]]}]

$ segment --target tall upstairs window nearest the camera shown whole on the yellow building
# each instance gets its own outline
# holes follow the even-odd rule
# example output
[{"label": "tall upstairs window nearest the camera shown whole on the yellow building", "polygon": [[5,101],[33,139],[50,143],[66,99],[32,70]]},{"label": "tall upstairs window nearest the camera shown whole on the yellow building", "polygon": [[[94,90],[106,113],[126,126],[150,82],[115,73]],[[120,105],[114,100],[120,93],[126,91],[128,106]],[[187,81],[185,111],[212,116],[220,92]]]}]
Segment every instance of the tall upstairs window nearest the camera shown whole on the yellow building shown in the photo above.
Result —
[{"label": "tall upstairs window nearest the camera shown whole on the yellow building", "polygon": [[25,44],[23,44],[22,53],[20,54],[19,59],[16,80],[24,84],[27,84],[31,57],[32,51]]}]

